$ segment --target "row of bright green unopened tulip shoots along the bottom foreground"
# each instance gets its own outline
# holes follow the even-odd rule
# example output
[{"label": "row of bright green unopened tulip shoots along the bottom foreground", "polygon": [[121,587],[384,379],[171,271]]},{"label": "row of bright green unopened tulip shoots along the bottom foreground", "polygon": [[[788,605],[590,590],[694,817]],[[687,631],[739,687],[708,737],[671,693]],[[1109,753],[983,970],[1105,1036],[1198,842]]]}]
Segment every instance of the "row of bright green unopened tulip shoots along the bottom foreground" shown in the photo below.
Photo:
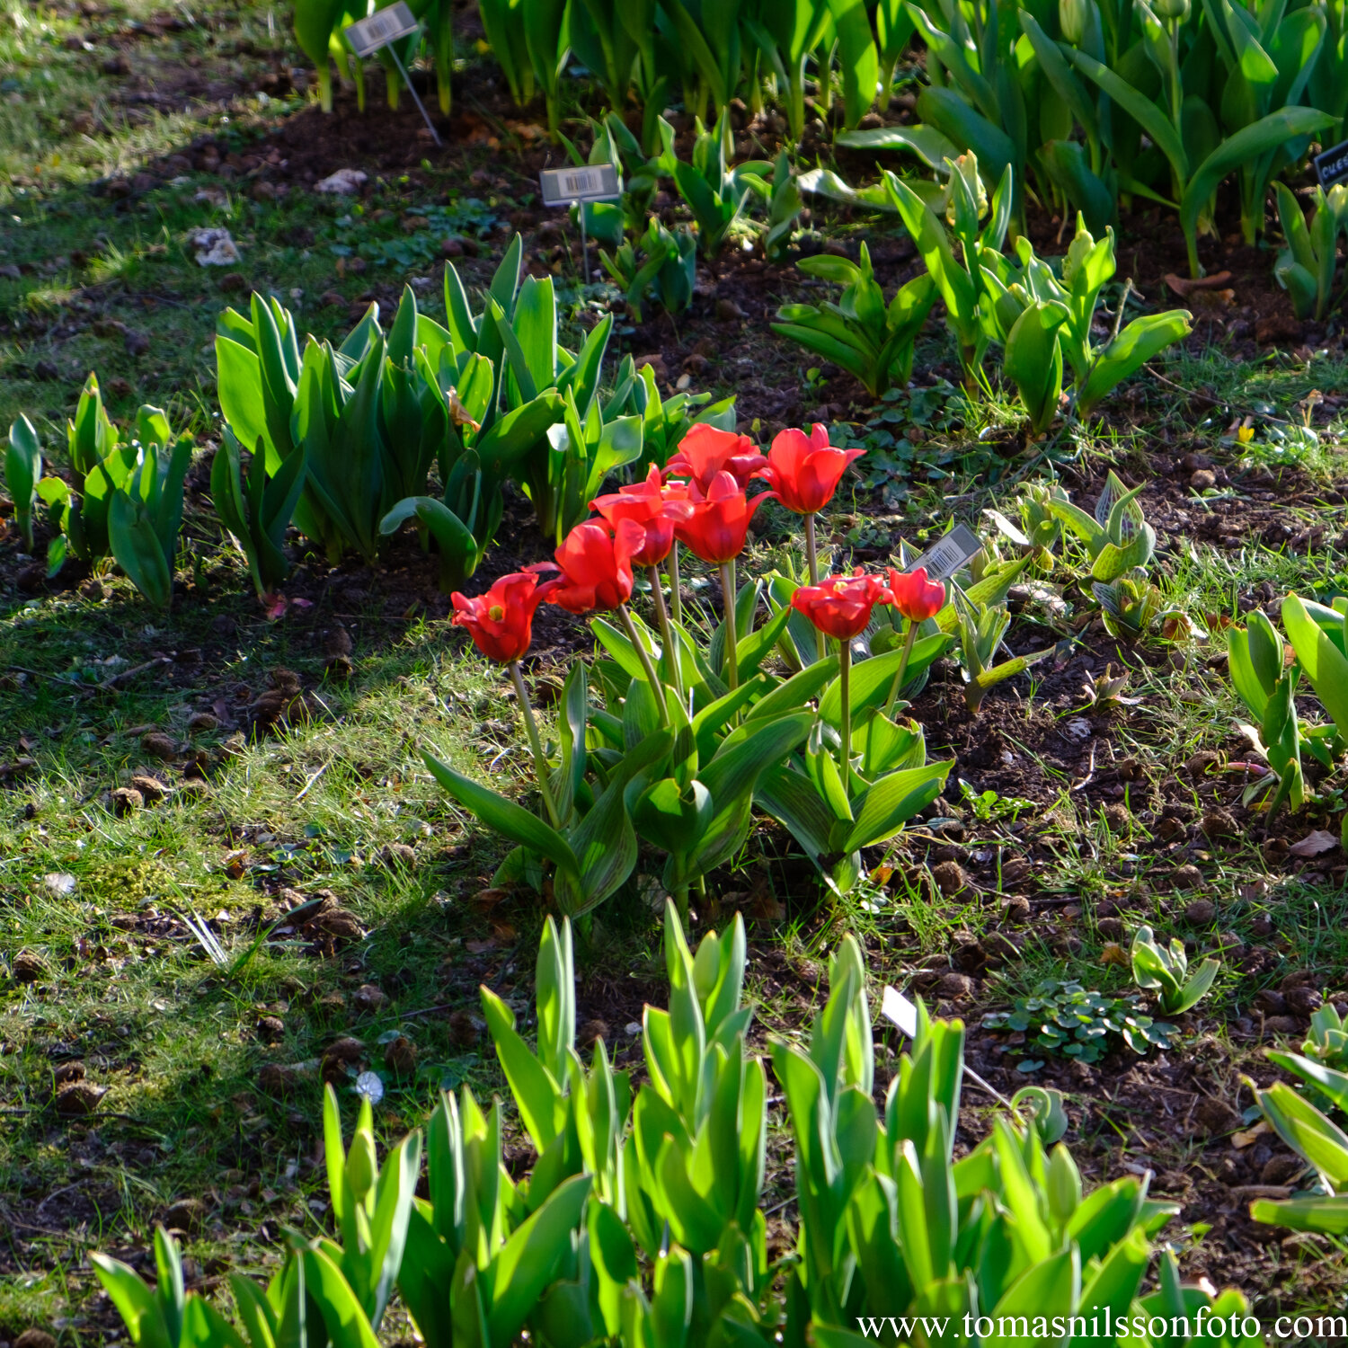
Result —
[{"label": "row of bright green unopened tulip shoots along the bottom foreground", "polygon": [[[132,1341],[375,1348],[400,1298],[429,1348],[507,1348],[526,1332],[547,1348],[860,1348],[869,1337],[972,1348],[999,1333],[1262,1345],[1242,1293],[1182,1283],[1170,1247],[1154,1244],[1178,1205],[1148,1197],[1150,1175],[1088,1188],[1061,1140],[1068,1116],[1055,1092],[988,1097],[985,1135],[956,1159],[956,1130],[967,1127],[961,1022],[917,1008],[876,1108],[865,967],[851,936],[829,961],[828,1003],[809,1031],[770,1039],[794,1151],[795,1228],[791,1247],[770,1258],[774,1101],[748,1046],[743,922],[694,952],[670,907],[665,954],[669,1007],[646,1007],[638,1073],[615,1069],[603,1041],[589,1064],[577,1049],[565,921],[543,929],[534,1045],[483,988],[535,1153],[527,1178],[503,1165],[499,1100],[484,1109],[468,1086],[443,1096],[425,1142],[411,1134],[380,1166],[369,1101],[346,1147],[329,1088],[332,1233],[286,1232],[266,1289],[231,1275],[233,1321],[185,1291],[163,1232],[156,1289],[94,1255]],[[1287,1215],[1266,1206],[1256,1216]]]}]

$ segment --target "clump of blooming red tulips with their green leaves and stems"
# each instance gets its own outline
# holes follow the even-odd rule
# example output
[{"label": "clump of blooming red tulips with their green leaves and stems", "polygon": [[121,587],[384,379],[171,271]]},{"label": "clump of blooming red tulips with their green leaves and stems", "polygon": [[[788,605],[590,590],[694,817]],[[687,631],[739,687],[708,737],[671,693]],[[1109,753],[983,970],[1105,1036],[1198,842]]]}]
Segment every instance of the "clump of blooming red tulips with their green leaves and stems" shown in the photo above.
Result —
[{"label": "clump of blooming red tulips with their green leaves and stems", "polygon": [[[895,713],[952,642],[946,586],[923,570],[821,574],[814,516],[860,453],[832,446],[822,426],[783,431],[763,456],[747,435],[697,425],[663,470],[592,501],[596,514],[551,562],[480,597],[454,594],[454,623],[510,667],[547,821],[427,762],[518,844],[504,875],[550,867],[574,915],[628,878],[646,842],[666,855],[665,887],[686,910],[690,891],[743,847],[758,806],[845,890],[864,875],[861,849],[940,793],[952,764],[927,763],[921,725]],[[759,483],[766,489],[751,495]],[[749,524],[768,500],[805,519],[807,582],[771,573],[737,584]],[[681,547],[718,573],[718,623],[685,603]],[[632,611],[643,580],[654,627]],[[590,670],[576,662],[568,674],[553,748],[519,669],[539,604],[593,615],[600,644]],[[809,628],[793,631],[801,619]],[[778,651],[794,673],[764,669]],[[590,702],[593,675],[601,705]]]}]

